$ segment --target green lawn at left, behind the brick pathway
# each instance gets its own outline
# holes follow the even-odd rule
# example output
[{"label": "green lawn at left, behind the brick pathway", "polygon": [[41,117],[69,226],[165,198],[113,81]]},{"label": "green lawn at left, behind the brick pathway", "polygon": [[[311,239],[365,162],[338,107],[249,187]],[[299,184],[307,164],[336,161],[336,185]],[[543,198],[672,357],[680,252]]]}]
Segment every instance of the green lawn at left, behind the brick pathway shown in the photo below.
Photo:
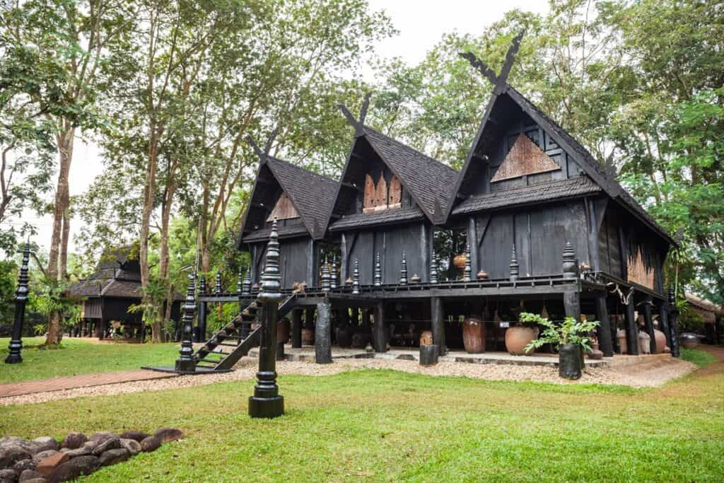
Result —
[{"label": "green lawn at left, behind the brick pathway", "polygon": [[22,364],[2,364],[7,357],[9,339],[0,338],[0,384],[5,382],[75,376],[93,372],[123,371],[146,365],[173,365],[178,354],[176,344],[91,343],[65,337],[60,348],[38,349],[43,337],[22,340]]}]

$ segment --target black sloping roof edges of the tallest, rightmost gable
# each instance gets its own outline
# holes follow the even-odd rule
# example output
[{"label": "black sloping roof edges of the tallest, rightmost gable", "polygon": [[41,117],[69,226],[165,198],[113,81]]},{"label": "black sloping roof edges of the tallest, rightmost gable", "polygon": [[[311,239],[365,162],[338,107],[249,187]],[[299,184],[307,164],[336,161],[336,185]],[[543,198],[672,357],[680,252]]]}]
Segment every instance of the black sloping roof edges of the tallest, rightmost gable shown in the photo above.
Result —
[{"label": "black sloping roof edges of the tallest, rightmost gable", "polygon": [[[617,180],[609,177],[606,174],[605,169],[603,169],[601,164],[599,164],[599,162],[594,159],[591,153],[589,153],[589,151],[584,148],[581,143],[578,143],[578,141],[574,139],[573,136],[571,136],[566,130],[564,130],[563,127],[557,125],[557,123],[553,119],[548,117],[547,114],[542,112],[535,104],[529,101],[526,96],[523,96],[523,94],[516,91],[515,88],[508,84],[506,84],[505,87],[501,89],[500,93],[494,92],[492,97],[490,98],[490,101],[487,104],[483,120],[481,121],[479,130],[476,133],[475,139],[473,140],[470,151],[468,151],[468,156],[466,158],[465,164],[463,165],[463,169],[460,170],[458,179],[455,181],[455,194],[448,198],[446,210],[448,216],[454,211],[453,206],[455,204],[456,195],[458,194],[460,188],[463,185],[463,180],[466,177],[468,169],[470,169],[473,155],[477,146],[479,145],[488,119],[492,114],[493,106],[498,98],[502,96],[508,96],[508,98],[513,100],[515,104],[518,104],[523,112],[528,114],[531,119],[536,122],[536,124],[538,124],[543,130],[549,133],[552,138],[555,139],[556,143],[564,149],[564,151],[566,151],[568,154],[573,156],[576,161],[578,161],[578,164],[581,165],[581,167],[585,170],[586,174],[589,175],[589,177],[591,177],[591,179],[596,182],[597,185],[599,185],[602,190],[607,193],[608,196],[618,201],[622,206],[631,211],[636,217],[639,217],[639,219],[641,219],[641,221],[643,221],[645,224],[648,224],[649,227],[654,230],[654,232],[657,232],[657,234],[667,240],[668,243],[678,245],[678,243],[670,237],[668,232],[666,232],[666,230],[664,230],[651,217],[651,215],[649,215],[648,212],[638,202],[636,202],[636,200],[634,200],[630,194],[628,194],[628,192],[619,184]],[[527,188],[532,189],[533,187],[529,186]]]}]

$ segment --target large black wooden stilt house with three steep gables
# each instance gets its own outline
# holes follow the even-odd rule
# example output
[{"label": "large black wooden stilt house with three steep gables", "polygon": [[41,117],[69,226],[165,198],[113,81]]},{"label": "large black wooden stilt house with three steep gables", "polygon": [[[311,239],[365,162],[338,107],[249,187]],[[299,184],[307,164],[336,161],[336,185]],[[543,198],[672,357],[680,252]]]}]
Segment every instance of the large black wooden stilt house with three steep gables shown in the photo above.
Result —
[{"label": "large black wooden stilt house with three steep gables", "polygon": [[639,353],[639,319],[655,350],[657,314],[671,344],[662,265],[675,240],[613,169],[504,78],[489,77],[495,89],[460,172],[346,109],[355,134],[338,181],[257,148],[238,247],[251,254],[246,285],[258,283],[278,220],[292,346],[303,343],[302,327],[316,329],[324,361],[341,338],[335,328],[351,326],[360,335],[353,343],[377,352],[415,345],[424,330],[454,349],[461,320],[476,316],[497,349],[521,311],[599,320],[605,356],[622,350],[616,329],[625,329],[628,353]]}]

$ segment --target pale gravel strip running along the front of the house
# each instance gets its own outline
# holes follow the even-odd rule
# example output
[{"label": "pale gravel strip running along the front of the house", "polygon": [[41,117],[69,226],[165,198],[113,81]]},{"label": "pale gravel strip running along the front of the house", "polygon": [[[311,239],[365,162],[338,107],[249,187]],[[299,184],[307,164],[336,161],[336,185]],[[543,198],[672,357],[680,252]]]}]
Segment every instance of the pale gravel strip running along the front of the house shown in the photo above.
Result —
[{"label": "pale gravel strip running along the front of the house", "polygon": [[[180,376],[169,379],[123,382],[120,384],[78,387],[75,389],[38,392],[30,395],[0,398],[0,406],[12,404],[43,403],[50,400],[78,398],[82,396],[128,394],[140,391],[158,391],[253,379],[256,374],[256,358],[245,357],[237,363],[235,371],[225,374],[200,376]],[[358,369],[395,369],[397,371],[427,374],[429,376],[463,376],[475,379],[552,382],[554,384],[606,384],[627,385],[632,387],[655,387],[671,379],[689,374],[696,366],[675,358],[656,360],[620,368],[590,368],[584,377],[577,381],[568,381],[558,377],[555,368],[544,366],[515,366],[511,364],[466,364],[460,362],[441,362],[437,366],[422,367],[416,361],[387,361],[381,359],[340,359],[334,364],[318,365],[309,362],[278,362],[279,374],[303,374],[323,376],[342,371]]]}]

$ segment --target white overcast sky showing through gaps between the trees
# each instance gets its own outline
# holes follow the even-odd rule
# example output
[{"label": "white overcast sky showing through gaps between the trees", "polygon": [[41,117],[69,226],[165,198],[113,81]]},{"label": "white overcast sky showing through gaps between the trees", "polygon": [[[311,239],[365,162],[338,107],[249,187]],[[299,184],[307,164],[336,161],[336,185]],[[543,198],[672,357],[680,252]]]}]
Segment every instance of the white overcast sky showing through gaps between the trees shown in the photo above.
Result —
[{"label": "white overcast sky showing through gaps between the trees", "polygon": [[[369,0],[369,4],[374,10],[387,11],[395,28],[400,31],[394,38],[379,42],[377,54],[382,57],[399,56],[408,64],[420,62],[426,51],[445,33],[455,30],[458,33],[480,33],[486,25],[500,20],[505,12],[515,8],[538,13],[548,11],[548,3],[544,0]],[[365,77],[374,75],[374,72],[364,71]],[[101,172],[103,165],[98,147],[77,139],[70,169],[71,196],[84,193],[93,178]],[[38,236],[34,237],[33,241],[47,249],[51,238],[52,217],[38,218],[28,212],[24,218],[38,227]],[[79,232],[79,223],[78,219],[71,222],[71,252],[77,248],[74,238]]]}]

